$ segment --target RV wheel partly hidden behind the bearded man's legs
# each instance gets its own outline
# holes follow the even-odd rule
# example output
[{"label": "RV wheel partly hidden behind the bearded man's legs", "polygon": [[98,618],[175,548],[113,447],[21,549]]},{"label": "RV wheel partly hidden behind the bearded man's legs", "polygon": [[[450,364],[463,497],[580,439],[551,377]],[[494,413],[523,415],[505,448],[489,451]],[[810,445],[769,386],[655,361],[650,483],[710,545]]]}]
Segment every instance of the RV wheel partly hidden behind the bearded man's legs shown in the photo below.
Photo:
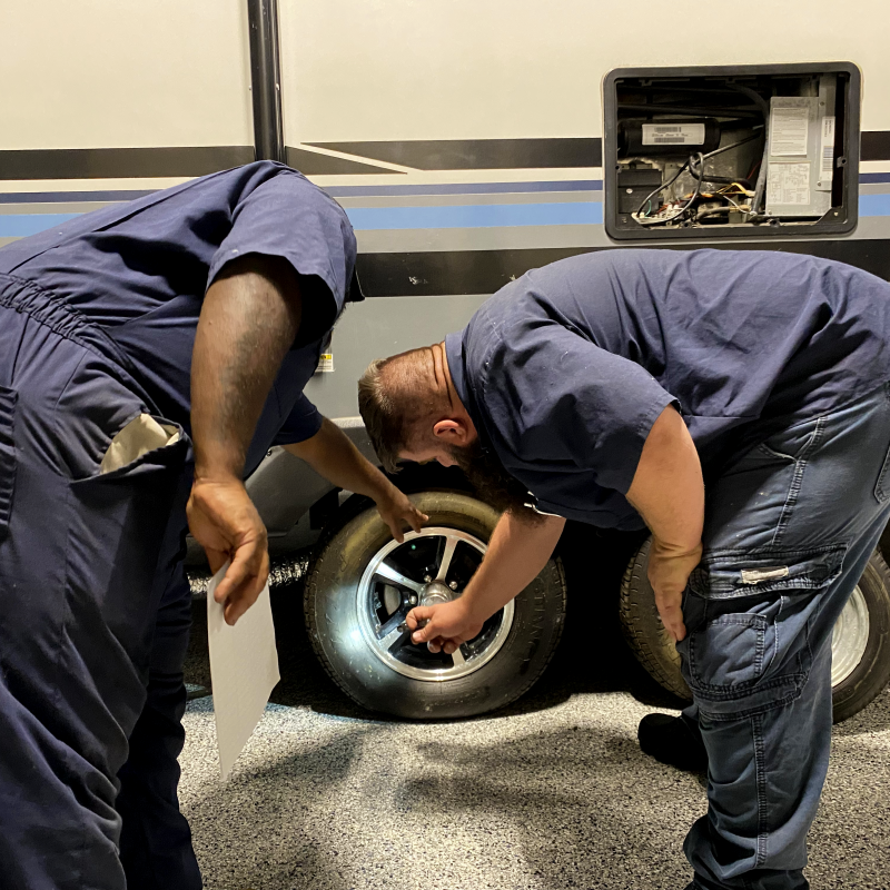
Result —
[{"label": "RV wheel partly hidden behind the bearded man's legs", "polygon": [[[631,560],[621,585],[624,636],[645,670],[669,692],[692,701],[680,654],[661,623],[646,577],[650,541]],[[859,713],[890,681],[890,570],[876,551],[850,596],[832,637],[835,723]]]}]

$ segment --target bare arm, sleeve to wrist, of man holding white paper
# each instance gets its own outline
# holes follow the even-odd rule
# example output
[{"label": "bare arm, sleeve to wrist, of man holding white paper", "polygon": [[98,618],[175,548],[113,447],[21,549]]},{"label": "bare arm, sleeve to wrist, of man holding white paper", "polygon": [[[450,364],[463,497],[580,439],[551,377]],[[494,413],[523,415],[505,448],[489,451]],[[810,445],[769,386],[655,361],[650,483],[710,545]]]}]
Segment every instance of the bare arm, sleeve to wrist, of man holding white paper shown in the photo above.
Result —
[{"label": "bare arm, sleeve to wrist, of man holding white paper", "polygon": [[245,257],[207,290],[191,360],[196,478],[240,478],[260,412],[300,323],[296,273]]}]

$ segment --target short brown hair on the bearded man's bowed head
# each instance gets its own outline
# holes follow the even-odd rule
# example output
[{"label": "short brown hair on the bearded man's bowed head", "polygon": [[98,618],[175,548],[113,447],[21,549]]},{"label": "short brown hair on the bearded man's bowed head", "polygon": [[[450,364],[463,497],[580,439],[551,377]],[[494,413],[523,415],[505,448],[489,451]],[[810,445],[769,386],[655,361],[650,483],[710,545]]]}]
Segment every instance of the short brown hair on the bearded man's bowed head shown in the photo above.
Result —
[{"label": "short brown hair on the bearded man's bowed head", "polygon": [[418,427],[437,412],[446,414],[447,397],[431,387],[429,347],[378,358],[358,380],[358,411],[374,451],[387,473],[398,473],[402,452],[417,438]]}]

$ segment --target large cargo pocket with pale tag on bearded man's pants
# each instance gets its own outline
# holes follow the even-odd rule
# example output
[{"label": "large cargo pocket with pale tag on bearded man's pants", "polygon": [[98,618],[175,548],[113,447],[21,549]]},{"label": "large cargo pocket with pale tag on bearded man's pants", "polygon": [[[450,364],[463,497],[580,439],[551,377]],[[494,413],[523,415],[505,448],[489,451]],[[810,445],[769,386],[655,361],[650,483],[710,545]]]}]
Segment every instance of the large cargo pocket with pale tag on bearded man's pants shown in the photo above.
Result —
[{"label": "large cargo pocket with pale tag on bearded man's pants", "polygon": [[734,720],[798,698],[812,666],[810,623],[844,553],[841,544],[705,555],[690,578],[703,614],[679,646],[702,714]]}]

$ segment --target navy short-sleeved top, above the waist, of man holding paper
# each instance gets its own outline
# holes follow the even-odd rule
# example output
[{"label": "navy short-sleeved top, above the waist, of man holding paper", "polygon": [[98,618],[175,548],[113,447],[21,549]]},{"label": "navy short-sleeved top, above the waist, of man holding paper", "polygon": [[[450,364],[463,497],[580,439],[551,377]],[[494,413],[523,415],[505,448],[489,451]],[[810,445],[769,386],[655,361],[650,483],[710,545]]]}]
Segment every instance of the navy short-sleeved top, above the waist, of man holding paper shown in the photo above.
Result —
[{"label": "navy short-sleeved top, above the waist, of man holding paper", "polygon": [[[343,310],[356,241],[343,208],[301,174],[257,161],[86,214],[0,249],[0,273],[28,279],[113,342],[164,417],[190,428],[191,349],[207,288],[248,254],[300,276],[303,320],[247,455],[315,435],[303,395]],[[355,296],[355,295],[353,295]]]}]

